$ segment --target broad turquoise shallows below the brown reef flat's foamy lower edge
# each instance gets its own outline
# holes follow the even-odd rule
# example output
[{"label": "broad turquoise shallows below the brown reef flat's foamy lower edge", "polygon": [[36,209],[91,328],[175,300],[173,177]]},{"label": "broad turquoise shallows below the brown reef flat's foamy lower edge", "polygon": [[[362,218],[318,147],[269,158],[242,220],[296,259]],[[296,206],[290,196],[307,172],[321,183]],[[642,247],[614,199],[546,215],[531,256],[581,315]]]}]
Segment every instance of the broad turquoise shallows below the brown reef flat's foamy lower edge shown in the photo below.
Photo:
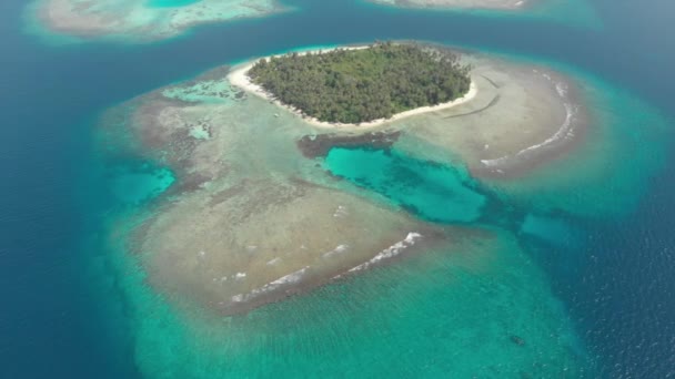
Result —
[{"label": "broad turquoise shallows below the brown reef flat's foamy lower edge", "polygon": [[144,275],[122,270],[135,362],[148,378],[596,377],[564,306],[508,233],[449,237],[241,316],[168,307]]}]

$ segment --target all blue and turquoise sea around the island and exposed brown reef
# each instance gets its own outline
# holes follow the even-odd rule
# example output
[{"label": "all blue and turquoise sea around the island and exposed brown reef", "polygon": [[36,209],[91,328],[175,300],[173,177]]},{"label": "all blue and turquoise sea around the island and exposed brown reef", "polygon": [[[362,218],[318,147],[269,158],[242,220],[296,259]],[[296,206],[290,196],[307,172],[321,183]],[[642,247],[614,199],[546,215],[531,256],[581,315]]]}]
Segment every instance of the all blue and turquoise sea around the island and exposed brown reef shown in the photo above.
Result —
[{"label": "all blue and turquoise sea around the island and exposed brown reef", "polygon": [[[675,83],[664,76],[675,6],[588,0],[586,28],[565,13],[548,22],[288,3],[299,11],[142,47],[48,47],[20,32],[22,2],[0,6],[0,377],[675,375]],[[624,28],[627,19],[643,28]],[[152,216],[175,178],[161,163],[100,151],[102,112],[218,64],[375,39],[574,68],[606,140],[480,186],[445,162],[335,148],[326,168],[355,191],[471,231],[245,317],[172,306],[150,288],[125,253],[125,221]]]}]

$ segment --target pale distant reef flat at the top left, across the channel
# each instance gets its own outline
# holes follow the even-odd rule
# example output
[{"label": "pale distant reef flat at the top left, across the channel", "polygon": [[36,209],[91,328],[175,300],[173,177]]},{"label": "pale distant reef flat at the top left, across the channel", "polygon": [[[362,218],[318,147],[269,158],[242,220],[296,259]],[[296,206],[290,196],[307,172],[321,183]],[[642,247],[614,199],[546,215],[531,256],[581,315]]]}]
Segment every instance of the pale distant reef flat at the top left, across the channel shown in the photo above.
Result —
[{"label": "pale distant reef flat at the top left, across the channel", "polygon": [[36,0],[28,8],[33,31],[42,34],[132,42],[161,40],[202,23],[282,10],[276,0]]}]

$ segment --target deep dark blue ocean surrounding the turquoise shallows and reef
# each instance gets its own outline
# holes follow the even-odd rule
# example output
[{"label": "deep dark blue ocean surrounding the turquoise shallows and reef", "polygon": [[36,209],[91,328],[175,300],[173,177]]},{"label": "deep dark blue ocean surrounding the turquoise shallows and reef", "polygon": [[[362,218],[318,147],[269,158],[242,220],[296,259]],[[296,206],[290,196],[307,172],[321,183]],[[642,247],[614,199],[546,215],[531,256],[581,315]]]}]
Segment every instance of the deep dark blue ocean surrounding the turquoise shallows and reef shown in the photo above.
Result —
[{"label": "deep dark blue ocean surrounding the turquoise shallows and reef", "polygon": [[[352,0],[197,29],[144,45],[48,45],[0,3],[0,378],[133,378],[125,325],[82,275],[114,206],[92,133],[105,107],[211,66],[302,45],[419,39],[560,61],[627,88],[675,127],[675,2],[588,0],[603,27],[397,11]],[[349,28],[345,28],[349,25]],[[638,127],[638,125],[636,125]],[[675,377],[675,158],[628,217],[585,222],[578,248],[534,258],[607,378]],[[622,170],[614,162],[612,170]],[[607,196],[611,196],[608,193]],[[114,321],[113,321],[114,324]]]}]

